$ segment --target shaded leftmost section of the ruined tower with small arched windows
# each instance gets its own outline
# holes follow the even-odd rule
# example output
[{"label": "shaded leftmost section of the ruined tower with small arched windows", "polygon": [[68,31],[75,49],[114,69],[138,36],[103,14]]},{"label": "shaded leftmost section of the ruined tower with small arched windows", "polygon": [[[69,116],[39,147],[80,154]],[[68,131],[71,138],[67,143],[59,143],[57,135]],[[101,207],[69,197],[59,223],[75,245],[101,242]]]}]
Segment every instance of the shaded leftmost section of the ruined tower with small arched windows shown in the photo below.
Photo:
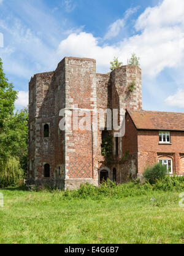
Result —
[{"label": "shaded leftmost section of the ruined tower with small arched windows", "polygon": [[[53,76],[54,72],[36,74],[29,83],[28,177],[35,180],[43,178],[44,162],[50,162],[52,167],[55,166],[55,143],[53,135],[55,131],[55,123],[52,107],[53,98],[50,89]],[[47,104],[45,104],[46,101]],[[44,123],[50,124],[49,139],[43,138]],[[30,172],[31,161],[34,161],[32,173]]]}]

